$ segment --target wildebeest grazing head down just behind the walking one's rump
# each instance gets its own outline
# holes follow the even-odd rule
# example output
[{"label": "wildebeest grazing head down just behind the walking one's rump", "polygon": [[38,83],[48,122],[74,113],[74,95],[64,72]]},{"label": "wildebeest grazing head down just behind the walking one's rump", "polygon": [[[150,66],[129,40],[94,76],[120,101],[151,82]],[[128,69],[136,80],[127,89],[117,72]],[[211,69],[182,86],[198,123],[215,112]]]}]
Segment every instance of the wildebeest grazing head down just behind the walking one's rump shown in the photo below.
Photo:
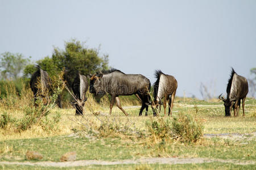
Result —
[{"label": "wildebeest grazing head down just behind the walking one's rump", "polygon": [[161,70],[155,71],[156,82],[154,83],[154,102],[152,102],[151,107],[156,116],[155,110],[158,105],[161,104],[161,100],[164,98],[164,116],[166,115],[166,101],[168,100],[169,112],[168,116],[172,115],[172,108],[174,107],[174,98],[177,90],[177,80],[174,76],[162,73]]}]

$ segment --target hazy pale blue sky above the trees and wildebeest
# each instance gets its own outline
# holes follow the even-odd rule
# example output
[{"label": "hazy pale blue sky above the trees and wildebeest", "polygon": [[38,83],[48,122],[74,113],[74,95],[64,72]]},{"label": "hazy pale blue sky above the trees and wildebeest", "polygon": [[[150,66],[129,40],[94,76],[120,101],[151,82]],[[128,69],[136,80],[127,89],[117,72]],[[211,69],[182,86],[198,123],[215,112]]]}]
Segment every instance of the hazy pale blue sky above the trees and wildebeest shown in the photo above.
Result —
[{"label": "hazy pale blue sky above the trees and wildebeest", "polygon": [[256,1],[0,0],[0,53],[51,56],[75,38],[101,45],[109,65],[151,79],[174,75],[177,95],[201,97],[203,82],[225,94],[230,67],[256,67]]}]

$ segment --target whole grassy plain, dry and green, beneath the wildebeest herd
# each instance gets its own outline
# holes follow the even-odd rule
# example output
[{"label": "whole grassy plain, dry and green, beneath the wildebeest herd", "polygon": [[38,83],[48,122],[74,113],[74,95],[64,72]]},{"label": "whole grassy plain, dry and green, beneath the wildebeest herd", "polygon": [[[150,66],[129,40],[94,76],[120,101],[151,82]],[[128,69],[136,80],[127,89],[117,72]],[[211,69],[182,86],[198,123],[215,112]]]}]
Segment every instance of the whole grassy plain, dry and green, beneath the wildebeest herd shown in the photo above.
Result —
[{"label": "whole grassy plain, dry and green, beneath the wildebeest herd", "polygon": [[[26,97],[31,97],[28,94]],[[31,99],[31,98],[30,98]],[[20,99],[20,103],[25,102]],[[137,100],[137,99],[134,99]],[[122,99],[121,99],[122,101]],[[17,101],[16,101],[17,102]],[[138,101],[137,101],[138,102]],[[14,102],[15,103],[15,102]],[[40,161],[59,162],[61,155],[69,151],[77,152],[77,160],[124,160],[139,158],[209,158],[209,159],[236,159],[256,160],[256,100],[247,99],[245,117],[240,110],[239,117],[225,117],[224,106],[218,100],[201,101],[177,97],[174,103],[173,117],[180,113],[191,115],[204,126],[204,134],[227,134],[230,138],[221,135],[201,137],[197,142],[184,143],[179,140],[153,139],[149,137],[147,122],[164,117],[163,107],[159,117],[152,116],[151,107],[147,117],[139,117],[139,107],[127,100],[122,105],[129,113],[125,116],[117,107],[113,108],[109,116],[108,97],[97,104],[89,95],[85,105],[85,116],[75,116],[75,109],[53,108],[48,118],[60,114],[60,120],[51,128],[35,124],[25,131],[16,131],[13,125],[7,124],[0,128],[0,161],[25,162],[26,151],[40,152],[43,159]],[[1,105],[0,114],[8,113],[16,119],[22,118],[26,103],[16,107]],[[29,103],[28,103],[29,105]],[[32,107],[32,106],[31,106]],[[168,109],[167,109],[168,112]],[[108,125],[108,128],[103,125]],[[111,125],[111,126],[110,126]],[[48,127],[48,126],[47,126]],[[103,128],[102,128],[103,127]],[[105,129],[104,129],[105,127]],[[115,129],[117,127],[118,130]],[[232,134],[239,138],[233,138]],[[241,135],[240,135],[241,134]],[[127,164],[127,165],[89,165],[88,169],[253,169],[254,165],[236,165],[232,163],[201,163],[201,164]],[[28,165],[1,165],[0,168],[19,169],[51,169],[51,167],[31,167]],[[76,167],[80,169],[82,167]],[[69,168],[70,169],[70,168]]]}]

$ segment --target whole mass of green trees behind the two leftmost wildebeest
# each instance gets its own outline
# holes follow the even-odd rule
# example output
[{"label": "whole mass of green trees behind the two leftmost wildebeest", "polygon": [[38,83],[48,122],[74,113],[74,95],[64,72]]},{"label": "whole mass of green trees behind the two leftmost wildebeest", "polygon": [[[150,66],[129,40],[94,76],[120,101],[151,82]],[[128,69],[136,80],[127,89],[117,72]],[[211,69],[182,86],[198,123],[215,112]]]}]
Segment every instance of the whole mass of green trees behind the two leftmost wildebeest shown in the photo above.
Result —
[{"label": "whole mass of green trees behind the two leftmost wildebeest", "polygon": [[[77,40],[65,42],[64,50],[54,48],[52,57],[45,57],[36,63],[50,76],[60,73],[64,69],[64,79],[71,87],[77,71],[88,75],[102,69],[108,69],[108,55],[100,57],[99,49],[89,49],[84,44],[84,42]],[[35,70],[34,65],[27,65],[24,76],[31,76]]]}]

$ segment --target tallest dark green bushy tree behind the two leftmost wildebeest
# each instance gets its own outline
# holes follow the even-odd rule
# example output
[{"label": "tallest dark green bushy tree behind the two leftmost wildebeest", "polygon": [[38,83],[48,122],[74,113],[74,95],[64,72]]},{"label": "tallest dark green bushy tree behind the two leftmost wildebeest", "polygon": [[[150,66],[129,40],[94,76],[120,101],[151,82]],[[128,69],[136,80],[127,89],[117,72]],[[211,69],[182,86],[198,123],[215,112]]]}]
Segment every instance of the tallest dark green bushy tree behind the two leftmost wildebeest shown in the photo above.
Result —
[{"label": "tallest dark green bushy tree behind the two leftmost wildebeest", "polygon": [[83,44],[84,42],[71,40],[65,42],[65,50],[55,48],[52,54],[56,71],[65,69],[64,78],[69,87],[77,71],[88,75],[101,69],[108,69],[108,55],[100,57],[98,49],[89,49]]}]

